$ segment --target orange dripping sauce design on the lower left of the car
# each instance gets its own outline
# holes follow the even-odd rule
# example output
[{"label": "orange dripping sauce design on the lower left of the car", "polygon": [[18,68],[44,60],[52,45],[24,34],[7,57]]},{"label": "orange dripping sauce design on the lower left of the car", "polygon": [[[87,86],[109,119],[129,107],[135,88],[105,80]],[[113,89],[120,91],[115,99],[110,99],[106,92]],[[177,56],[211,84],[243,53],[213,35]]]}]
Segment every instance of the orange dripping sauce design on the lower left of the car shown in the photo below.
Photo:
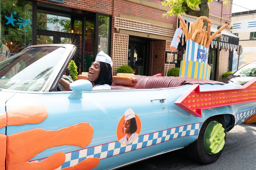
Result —
[{"label": "orange dripping sauce design on the lower left of the car", "polygon": [[[40,123],[44,121],[47,115],[47,108],[41,105],[17,107],[7,110],[7,126]],[[50,170],[58,168],[66,159],[63,152],[57,152],[40,162],[29,162],[29,160],[45,149],[54,146],[75,145],[85,147],[90,144],[92,136],[93,128],[87,122],[81,122],[55,131],[30,129],[8,135],[7,142],[5,143],[6,146],[4,146],[4,150],[6,149],[6,169]],[[2,157],[0,155],[1,160]],[[99,162],[100,159],[98,158],[87,158],[68,168],[75,170],[79,169],[79,167],[88,167],[91,169],[98,166]]]}]

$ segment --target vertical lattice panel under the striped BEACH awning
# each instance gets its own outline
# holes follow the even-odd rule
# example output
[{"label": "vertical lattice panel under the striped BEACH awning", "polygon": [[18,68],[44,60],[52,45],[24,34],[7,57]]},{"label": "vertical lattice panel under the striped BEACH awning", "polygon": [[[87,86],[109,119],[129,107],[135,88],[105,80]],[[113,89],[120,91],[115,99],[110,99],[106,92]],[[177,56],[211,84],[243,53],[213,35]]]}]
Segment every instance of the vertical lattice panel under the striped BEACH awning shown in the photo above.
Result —
[{"label": "vertical lattice panel under the striped BEACH awning", "polygon": [[217,81],[222,81],[221,75],[228,71],[228,56],[229,50],[220,51],[220,64],[219,64],[219,75],[217,75]]}]

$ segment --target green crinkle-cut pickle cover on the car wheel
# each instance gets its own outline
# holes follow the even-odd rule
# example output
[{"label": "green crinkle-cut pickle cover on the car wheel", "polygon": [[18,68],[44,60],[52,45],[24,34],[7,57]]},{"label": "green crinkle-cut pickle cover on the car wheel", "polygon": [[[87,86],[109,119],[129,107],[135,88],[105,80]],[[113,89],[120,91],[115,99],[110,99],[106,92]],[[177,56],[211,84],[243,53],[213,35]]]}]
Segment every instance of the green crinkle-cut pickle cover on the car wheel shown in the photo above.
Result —
[{"label": "green crinkle-cut pickle cover on the car wheel", "polygon": [[225,132],[222,124],[216,121],[209,123],[204,133],[204,148],[209,154],[220,152],[225,144]]}]

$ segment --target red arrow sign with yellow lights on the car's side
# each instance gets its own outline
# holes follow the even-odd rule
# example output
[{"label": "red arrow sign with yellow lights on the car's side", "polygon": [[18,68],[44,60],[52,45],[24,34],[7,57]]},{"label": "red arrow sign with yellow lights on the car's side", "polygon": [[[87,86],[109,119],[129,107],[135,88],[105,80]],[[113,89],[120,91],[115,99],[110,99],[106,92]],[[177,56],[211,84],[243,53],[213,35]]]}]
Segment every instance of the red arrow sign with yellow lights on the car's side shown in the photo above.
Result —
[{"label": "red arrow sign with yellow lights on the car's side", "polygon": [[202,117],[202,109],[251,101],[256,101],[256,78],[237,89],[200,92],[198,84],[192,85],[174,104],[191,115]]}]

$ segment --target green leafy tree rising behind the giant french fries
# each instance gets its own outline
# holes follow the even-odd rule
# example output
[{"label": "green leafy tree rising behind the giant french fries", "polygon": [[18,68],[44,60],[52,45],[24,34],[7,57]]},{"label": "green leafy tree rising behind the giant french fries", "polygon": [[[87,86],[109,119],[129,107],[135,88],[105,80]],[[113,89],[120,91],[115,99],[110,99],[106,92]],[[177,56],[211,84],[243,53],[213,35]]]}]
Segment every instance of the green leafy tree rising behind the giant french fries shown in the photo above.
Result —
[{"label": "green leafy tree rising behind the giant french fries", "polygon": [[[213,0],[165,0],[162,5],[170,7],[163,16],[178,15],[185,12],[196,17],[209,17],[209,3]],[[230,0],[223,0],[223,4],[230,5]],[[199,8],[199,9],[198,9]]]}]

